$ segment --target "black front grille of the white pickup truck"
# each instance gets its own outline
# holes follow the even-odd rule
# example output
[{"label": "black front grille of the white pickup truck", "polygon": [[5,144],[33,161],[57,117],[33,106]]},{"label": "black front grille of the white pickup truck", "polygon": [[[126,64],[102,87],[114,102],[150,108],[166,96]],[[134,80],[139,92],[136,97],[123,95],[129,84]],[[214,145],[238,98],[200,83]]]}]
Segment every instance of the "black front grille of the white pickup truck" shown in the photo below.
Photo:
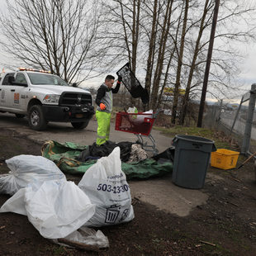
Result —
[{"label": "black front grille of the white pickup truck", "polygon": [[59,105],[92,105],[92,96],[86,93],[63,92],[59,98]]}]

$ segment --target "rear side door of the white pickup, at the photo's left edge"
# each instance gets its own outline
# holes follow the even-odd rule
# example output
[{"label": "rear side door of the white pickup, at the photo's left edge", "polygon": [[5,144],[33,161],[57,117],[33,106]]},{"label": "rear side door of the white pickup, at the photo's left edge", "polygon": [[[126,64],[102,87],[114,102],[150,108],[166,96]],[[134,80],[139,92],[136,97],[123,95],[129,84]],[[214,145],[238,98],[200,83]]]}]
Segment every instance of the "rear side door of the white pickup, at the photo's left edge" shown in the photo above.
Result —
[{"label": "rear side door of the white pickup, at the photo's left edge", "polygon": [[11,101],[11,89],[12,84],[9,83],[8,78],[13,77],[14,73],[7,73],[2,80],[0,85],[0,106],[2,109],[6,109],[10,107]]}]

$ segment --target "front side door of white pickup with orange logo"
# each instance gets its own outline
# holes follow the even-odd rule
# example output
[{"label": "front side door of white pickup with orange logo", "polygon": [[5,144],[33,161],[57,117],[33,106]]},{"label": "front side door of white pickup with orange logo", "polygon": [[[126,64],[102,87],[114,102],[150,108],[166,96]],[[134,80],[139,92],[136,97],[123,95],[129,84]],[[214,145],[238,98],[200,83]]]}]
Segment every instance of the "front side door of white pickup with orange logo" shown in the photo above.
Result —
[{"label": "front side door of white pickup with orange logo", "polygon": [[[26,111],[27,81],[24,73],[17,73],[11,88],[11,107],[16,111]],[[20,84],[19,84],[20,83]]]}]

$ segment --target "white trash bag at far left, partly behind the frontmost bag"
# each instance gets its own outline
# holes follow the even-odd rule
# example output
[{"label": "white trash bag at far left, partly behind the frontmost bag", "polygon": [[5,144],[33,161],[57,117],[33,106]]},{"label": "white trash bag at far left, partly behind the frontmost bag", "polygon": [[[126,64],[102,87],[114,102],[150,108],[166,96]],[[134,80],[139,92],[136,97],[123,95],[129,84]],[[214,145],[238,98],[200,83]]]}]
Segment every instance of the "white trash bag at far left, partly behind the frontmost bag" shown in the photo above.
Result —
[{"label": "white trash bag at far left, partly behind the frontmost bag", "polygon": [[56,164],[42,156],[21,154],[7,159],[6,163],[11,172],[0,175],[0,193],[13,195],[28,183],[66,180]]}]

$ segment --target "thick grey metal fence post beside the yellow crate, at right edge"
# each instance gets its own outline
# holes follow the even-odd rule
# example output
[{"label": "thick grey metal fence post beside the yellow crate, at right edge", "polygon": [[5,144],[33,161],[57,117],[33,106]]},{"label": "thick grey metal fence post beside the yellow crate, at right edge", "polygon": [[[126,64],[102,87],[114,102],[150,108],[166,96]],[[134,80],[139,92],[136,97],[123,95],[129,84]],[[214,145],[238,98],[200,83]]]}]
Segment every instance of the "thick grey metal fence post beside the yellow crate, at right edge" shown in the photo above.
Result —
[{"label": "thick grey metal fence post beside the yellow crate, at right edge", "polygon": [[255,97],[256,97],[255,92],[256,92],[256,83],[253,83],[250,91],[248,116],[247,116],[245,129],[244,129],[244,139],[243,139],[241,154],[249,153],[249,142],[251,138],[251,131],[252,131],[253,119],[254,119],[254,109],[255,109]]}]

